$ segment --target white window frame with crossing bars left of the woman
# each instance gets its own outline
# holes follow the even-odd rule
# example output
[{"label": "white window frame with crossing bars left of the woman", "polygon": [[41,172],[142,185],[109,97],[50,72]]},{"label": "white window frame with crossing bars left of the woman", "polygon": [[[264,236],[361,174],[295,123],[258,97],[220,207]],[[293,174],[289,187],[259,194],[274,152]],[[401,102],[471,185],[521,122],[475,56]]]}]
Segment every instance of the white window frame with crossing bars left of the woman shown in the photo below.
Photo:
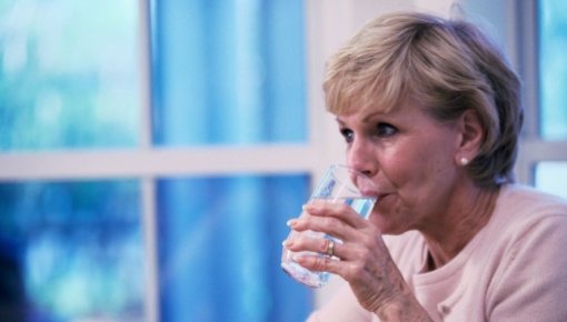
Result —
[{"label": "white window frame with crossing bars left of the woman", "polygon": [[[8,151],[0,153],[0,182],[42,180],[138,179],[141,184],[146,321],[159,321],[159,269],[156,185],[160,178],[191,175],[266,175],[306,173],[317,181],[329,163],[342,160],[335,121],[325,111],[321,74],[326,57],[351,31],[350,3],[305,2],[308,139],[296,144],[211,145],[165,148],[152,144],[151,130],[151,0],[139,0],[142,71],[139,145],[112,149]],[[342,17],[342,19],[337,19]],[[322,26],[322,27],[321,27]],[[341,34],[341,37],[337,37]],[[329,140],[328,133],[334,138]],[[233,158],[238,153],[239,158]],[[227,163],[223,160],[231,160]]]}]

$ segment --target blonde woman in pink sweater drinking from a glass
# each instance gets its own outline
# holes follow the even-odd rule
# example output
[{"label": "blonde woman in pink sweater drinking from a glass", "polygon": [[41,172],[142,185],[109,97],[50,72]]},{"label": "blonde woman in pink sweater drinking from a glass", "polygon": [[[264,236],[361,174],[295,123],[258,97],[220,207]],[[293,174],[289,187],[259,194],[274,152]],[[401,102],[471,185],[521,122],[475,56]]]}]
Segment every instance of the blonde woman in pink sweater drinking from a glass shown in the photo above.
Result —
[{"label": "blonde woman in pink sweater drinking from a glass", "polygon": [[340,204],[289,222],[311,270],[348,285],[309,321],[567,321],[567,203],[514,183],[519,80],[474,26],[371,21],[328,62],[347,162],[381,189],[368,221]]}]

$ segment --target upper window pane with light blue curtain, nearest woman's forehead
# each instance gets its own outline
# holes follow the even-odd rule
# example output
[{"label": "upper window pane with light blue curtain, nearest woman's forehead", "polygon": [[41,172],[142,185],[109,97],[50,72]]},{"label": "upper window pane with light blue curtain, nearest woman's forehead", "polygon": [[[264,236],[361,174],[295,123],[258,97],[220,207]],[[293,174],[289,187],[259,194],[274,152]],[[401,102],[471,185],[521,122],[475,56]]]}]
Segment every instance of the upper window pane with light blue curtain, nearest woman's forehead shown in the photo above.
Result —
[{"label": "upper window pane with light blue curtain, nearest woman's forehead", "polygon": [[163,145],[306,140],[304,1],[152,1]]}]

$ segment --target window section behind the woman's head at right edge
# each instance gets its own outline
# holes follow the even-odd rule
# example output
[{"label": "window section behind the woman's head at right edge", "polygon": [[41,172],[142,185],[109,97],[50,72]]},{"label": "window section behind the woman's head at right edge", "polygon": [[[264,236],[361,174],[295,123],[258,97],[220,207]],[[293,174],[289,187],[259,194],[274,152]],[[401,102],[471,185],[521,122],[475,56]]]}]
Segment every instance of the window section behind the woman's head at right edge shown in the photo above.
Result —
[{"label": "window section behind the woman's head at right edge", "polygon": [[[517,1],[518,62],[526,88],[526,124],[518,173],[554,194],[567,191],[567,49],[565,1]],[[530,50],[535,49],[535,50]]]}]

